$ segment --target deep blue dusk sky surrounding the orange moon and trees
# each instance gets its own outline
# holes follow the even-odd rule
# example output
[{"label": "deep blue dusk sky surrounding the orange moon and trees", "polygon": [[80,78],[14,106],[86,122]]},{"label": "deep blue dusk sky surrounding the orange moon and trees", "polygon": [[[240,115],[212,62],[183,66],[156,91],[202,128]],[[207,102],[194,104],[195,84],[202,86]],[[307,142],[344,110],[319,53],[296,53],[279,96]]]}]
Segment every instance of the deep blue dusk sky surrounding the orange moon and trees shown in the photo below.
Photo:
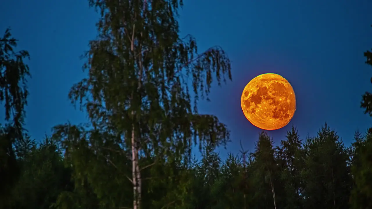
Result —
[{"label": "deep blue dusk sky surrounding the orange moon and trees", "polygon": [[[189,0],[181,12],[181,35],[196,37],[199,50],[220,45],[232,61],[232,82],[201,102],[201,113],[215,114],[231,130],[227,151],[238,152],[239,140],[250,151],[259,128],[240,108],[244,86],[262,73],[285,77],[295,90],[297,110],[288,126],[269,131],[283,139],[295,125],[302,139],[324,122],[349,145],[356,129],[372,120],[359,107],[371,88],[371,68],[363,52],[372,48],[372,1],[359,0]],[[31,54],[26,128],[35,139],[51,127],[86,120],[67,99],[81,80],[79,56],[96,36],[98,15],[87,1],[1,1],[0,32],[12,27],[19,49]],[[1,112],[3,114],[3,112]]]}]

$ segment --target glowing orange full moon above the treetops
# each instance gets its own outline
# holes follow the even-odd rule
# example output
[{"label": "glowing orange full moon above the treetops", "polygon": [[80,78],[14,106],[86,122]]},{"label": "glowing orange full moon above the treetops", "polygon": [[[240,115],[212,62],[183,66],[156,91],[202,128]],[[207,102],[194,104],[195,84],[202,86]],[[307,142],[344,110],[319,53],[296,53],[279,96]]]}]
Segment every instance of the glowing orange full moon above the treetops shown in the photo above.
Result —
[{"label": "glowing orange full moon above the treetops", "polygon": [[286,126],[296,111],[296,96],[282,76],[266,73],[253,78],[241,94],[241,109],[254,126],[276,130]]}]

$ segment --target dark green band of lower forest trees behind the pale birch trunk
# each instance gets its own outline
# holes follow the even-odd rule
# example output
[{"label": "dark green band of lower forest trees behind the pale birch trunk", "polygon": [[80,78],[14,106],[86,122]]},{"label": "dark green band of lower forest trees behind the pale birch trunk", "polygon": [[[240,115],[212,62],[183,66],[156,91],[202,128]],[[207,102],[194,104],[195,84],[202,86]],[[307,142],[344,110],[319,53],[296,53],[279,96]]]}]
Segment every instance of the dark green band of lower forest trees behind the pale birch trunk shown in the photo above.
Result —
[{"label": "dark green band of lower forest trees behind the pale birch trunk", "polygon": [[[292,127],[279,147],[259,134],[246,160],[233,154],[222,160],[210,146],[200,160],[169,156],[142,170],[142,207],[368,208],[372,135],[356,136],[345,147],[326,124],[302,143]],[[67,150],[49,138],[38,145],[26,138],[17,147],[22,172],[9,190],[12,208],[131,208],[131,161],[125,153],[100,157],[84,140],[73,146],[78,151],[64,155]]]}]

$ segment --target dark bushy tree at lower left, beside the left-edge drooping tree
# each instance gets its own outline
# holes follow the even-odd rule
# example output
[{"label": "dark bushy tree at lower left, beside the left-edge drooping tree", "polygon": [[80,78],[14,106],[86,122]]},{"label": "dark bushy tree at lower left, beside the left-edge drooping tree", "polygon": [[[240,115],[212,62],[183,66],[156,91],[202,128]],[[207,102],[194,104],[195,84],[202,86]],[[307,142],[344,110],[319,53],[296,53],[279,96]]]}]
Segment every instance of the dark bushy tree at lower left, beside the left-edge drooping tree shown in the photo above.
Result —
[{"label": "dark bushy tree at lower left, beside the left-edge drooping tree", "polygon": [[49,209],[70,183],[61,152],[48,137],[38,146],[29,137],[26,141],[29,145],[23,147],[25,150],[17,159],[21,175],[13,188],[12,206],[17,209]]}]

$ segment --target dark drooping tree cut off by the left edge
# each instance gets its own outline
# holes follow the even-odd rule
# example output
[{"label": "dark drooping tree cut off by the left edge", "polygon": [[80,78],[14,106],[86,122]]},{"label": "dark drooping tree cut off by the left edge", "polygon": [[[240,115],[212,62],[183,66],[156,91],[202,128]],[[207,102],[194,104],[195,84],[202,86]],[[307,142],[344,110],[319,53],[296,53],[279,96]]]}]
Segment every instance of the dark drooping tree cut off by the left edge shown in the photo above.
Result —
[{"label": "dark drooping tree cut off by the left edge", "polygon": [[[23,119],[27,105],[27,78],[29,67],[23,60],[29,58],[25,50],[15,51],[17,39],[10,28],[0,37],[0,103],[5,109],[5,126],[0,125],[0,208],[7,208],[12,186],[19,176],[13,145],[23,138]],[[19,140],[18,140],[19,141]]]}]

